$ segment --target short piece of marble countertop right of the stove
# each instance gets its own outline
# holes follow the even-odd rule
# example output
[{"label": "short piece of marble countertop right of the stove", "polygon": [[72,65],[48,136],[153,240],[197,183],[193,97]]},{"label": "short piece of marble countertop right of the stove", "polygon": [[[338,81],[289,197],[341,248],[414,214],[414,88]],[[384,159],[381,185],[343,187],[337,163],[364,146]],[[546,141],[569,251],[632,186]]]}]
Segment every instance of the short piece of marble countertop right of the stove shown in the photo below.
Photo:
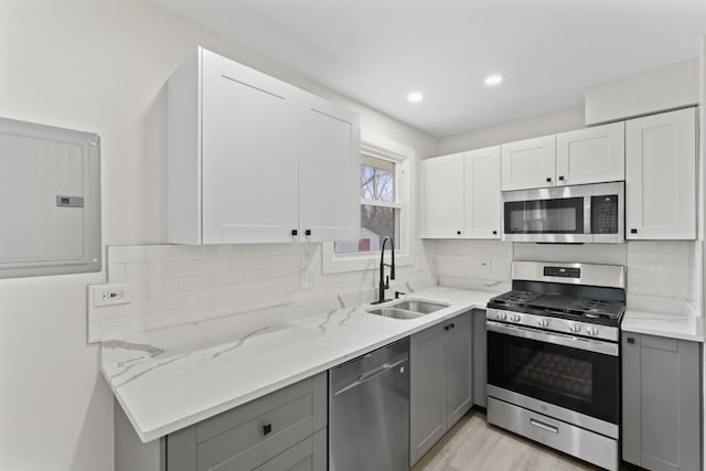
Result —
[{"label": "short piece of marble countertop right of the stove", "polygon": [[622,317],[623,332],[704,342],[704,318],[628,309]]}]

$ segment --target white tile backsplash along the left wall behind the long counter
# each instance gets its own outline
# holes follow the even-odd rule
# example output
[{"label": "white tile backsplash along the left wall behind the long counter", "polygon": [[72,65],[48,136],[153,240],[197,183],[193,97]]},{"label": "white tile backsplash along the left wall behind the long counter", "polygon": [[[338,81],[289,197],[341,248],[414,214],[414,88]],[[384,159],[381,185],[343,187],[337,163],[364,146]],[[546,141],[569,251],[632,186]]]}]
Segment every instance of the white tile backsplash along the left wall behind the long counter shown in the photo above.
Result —
[{"label": "white tile backsplash along the left wall behind the long counter", "polygon": [[[436,285],[426,248],[436,251],[436,244],[417,243],[416,266],[397,268],[388,296]],[[214,330],[223,322],[272,325],[325,312],[341,300],[373,300],[378,276],[377,264],[368,271],[322,275],[321,244],[109,246],[107,266],[108,282],[129,282],[132,301],[100,308],[89,302],[89,341],[191,322],[208,321]],[[301,269],[313,271],[311,288],[300,289]]]}]

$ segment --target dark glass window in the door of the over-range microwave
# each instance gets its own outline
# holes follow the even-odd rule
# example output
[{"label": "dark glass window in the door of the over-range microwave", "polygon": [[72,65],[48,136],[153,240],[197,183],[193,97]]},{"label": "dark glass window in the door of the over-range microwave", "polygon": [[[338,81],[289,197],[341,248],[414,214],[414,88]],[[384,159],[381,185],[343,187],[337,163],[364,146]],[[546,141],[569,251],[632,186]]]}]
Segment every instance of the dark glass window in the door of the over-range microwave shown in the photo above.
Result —
[{"label": "dark glass window in the door of the over-range microwave", "polygon": [[584,199],[505,203],[505,234],[584,234]]}]

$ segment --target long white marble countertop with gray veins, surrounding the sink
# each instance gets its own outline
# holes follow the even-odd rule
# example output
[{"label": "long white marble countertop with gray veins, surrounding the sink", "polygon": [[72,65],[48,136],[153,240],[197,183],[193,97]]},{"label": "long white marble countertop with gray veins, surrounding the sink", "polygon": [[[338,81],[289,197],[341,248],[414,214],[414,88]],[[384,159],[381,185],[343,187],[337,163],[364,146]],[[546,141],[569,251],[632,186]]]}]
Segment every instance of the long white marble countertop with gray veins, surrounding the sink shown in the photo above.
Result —
[{"label": "long white marble countertop with gray veins, surrounding the sink", "polygon": [[421,290],[407,299],[450,306],[414,320],[373,315],[365,304],[229,338],[221,331],[216,339],[193,323],[145,332],[103,342],[101,372],[138,436],[148,442],[470,308],[485,308],[494,295],[442,287]]}]

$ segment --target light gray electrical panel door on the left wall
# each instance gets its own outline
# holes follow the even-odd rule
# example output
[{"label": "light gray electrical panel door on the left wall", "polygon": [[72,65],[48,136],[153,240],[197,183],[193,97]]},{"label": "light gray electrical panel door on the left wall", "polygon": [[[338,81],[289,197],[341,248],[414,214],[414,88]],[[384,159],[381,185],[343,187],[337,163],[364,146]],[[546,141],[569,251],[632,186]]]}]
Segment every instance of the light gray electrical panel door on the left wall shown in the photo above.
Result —
[{"label": "light gray electrical panel door on the left wall", "polygon": [[0,277],[100,270],[99,139],[0,119]]}]

